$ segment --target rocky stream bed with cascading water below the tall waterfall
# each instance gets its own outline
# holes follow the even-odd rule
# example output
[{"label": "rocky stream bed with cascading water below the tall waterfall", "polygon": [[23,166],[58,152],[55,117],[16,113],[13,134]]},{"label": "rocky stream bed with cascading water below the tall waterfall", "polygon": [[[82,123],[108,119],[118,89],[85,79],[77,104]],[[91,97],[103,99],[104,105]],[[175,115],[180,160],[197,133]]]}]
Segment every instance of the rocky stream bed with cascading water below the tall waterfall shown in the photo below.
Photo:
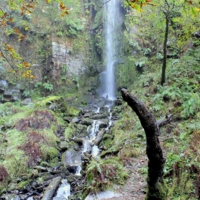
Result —
[{"label": "rocky stream bed with cascading water below the tall waterfall", "polygon": [[[0,199],[6,200],[66,200],[82,199],[83,191],[87,185],[85,169],[91,158],[96,158],[105,152],[103,145],[104,135],[109,136],[110,127],[117,120],[116,106],[121,105],[120,100],[109,101],[103,99],[94,105],[81,109],[77,117],[68,118],[68,129],[72,137],[65,139],[64,129],[60,129],[56,135],[59,142],[59,162],[51,167],[48,162],[34,166],[29,184],[23,189],[7,190]],[[41,121],[42,123],[42,121]],[[70,134],[71,134],[70,133]],[[40,177],[45,177],[39,182]],[[27,179],[26,175],[17,181]],[[98,194],[99,198],[117,196],[111,191]],[[95,196],[86,197],[87,200],[95,199]]]}]

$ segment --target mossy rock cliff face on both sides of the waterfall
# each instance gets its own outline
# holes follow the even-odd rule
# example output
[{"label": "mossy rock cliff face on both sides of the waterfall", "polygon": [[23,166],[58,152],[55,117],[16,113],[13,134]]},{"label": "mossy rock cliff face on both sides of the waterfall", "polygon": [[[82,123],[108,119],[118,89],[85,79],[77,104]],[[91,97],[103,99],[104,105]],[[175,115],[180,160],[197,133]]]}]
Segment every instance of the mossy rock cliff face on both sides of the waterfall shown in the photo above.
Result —
[{"label": "mossy rock cliff face on both sides of the waterfall", "polygon": [[[99,74],[105,69],[104,5],[95,0],[75,0],[67,1],[66,6],[69,14],[64,17],[61,17],[57,3],[50,5],[45,2],[39,2],[31,15],[21,16],[18,11],[10,13],[15,21],[6,27],[9,31],[6,28],[1,31],[1,36],[24,61],[31,64],[25,70],[31,70],[35,79],[27,81],[20,77],[23,72],[17,76],[10,73],[12,68],[16,71],[22,69],[17,67],[18,61],[7,54],[9,62],[1,61],[0,65],[5,70],[0,74],[1,80],[14,84],[20,82],[28,90],[45,90],[42,92],[45,95],[47,92],[74,93],[80,88],[96,94],[101,87]],[[123,1],[120,13],[120,34],[115,39],[118,48],[115,64],[117,88],[130,85],[135,76],[134,62],[127,57],[131,53],[127,51],[130,45],[124,32],[126,10]],[[19,30],[24,38],[19,40],[14,29]]]}]

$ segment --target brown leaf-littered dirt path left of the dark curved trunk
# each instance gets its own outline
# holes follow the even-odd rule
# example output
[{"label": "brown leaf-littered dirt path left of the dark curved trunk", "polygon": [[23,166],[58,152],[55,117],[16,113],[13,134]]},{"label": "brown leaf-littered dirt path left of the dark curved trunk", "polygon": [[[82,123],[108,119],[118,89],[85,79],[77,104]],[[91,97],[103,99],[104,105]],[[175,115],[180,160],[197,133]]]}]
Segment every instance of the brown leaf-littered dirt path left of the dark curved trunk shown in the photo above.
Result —
[{"label": "brown leaf-littered dirt path left of the dark curved trunk", "polygon": [[116,186],[115,190],[122,196],[104,198],[102,200],[144,200],[146,195],[147,157],[130,158],[125,166],[129,178],[122,186]]}]

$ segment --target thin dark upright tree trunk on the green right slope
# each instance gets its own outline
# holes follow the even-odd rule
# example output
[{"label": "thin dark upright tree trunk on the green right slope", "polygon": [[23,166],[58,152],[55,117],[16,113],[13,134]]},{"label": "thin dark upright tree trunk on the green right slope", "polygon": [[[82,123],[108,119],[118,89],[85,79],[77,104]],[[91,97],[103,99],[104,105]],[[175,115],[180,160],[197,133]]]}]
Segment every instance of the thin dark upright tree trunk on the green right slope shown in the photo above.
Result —
[{"label": "thin dark upright tree trunk on the green right slope", "polygon": [[169,34],[169,17],[168,12],[164,12],[165,15],[165,39],[164,39],[164,45],[163,45],[163,66],[162,66],[162,77],[161,77],[161,85],[163,85],[166,81],[166,68],[167,68],[167,40],[168,40],[168,34]]}]

